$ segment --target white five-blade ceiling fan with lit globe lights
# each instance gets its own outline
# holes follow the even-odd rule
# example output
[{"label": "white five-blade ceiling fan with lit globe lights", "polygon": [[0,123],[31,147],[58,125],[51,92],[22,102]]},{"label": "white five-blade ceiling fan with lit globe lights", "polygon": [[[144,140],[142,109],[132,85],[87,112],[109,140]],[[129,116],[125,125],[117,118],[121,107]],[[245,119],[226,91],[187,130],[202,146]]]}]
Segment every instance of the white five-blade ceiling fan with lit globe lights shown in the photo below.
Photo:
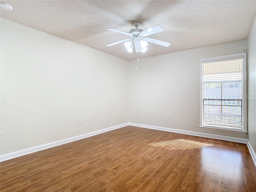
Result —
[{"label": "white five-blade ceiling fan with lit globe lights", "polygon": [[138,22],[138,21],[134,22],[133,25],[136,28],[131,29],[129,31],[129,33],[123,32],[123,31],[120,31],[120,30],[116,30],[116,29],[113,29],[113,28],[106,28],[106,30],[121,33],[121,34],[124,34],[124,35],[127,35],[127,36],[130,37],[130,38],[127,38],[127,39],[123,39],[123,40],[114,42],[114,43],[107,44],[106,46],[112,46],[112,45],[116,45],[116,44],[125,42],[124,46],[126,47],[127,51],[132,52],[133,48],[135,47],[135,52],[136,53],[145,52],[147,50],[146,46],[147,46],[148,42],[158,44],[158,45],[161,45],[161,46],[165,46],[165,47],[170,46],[171,43],[169,43],[169,42],[147,37],[147,36],[150,36],[152,34],[156,34],[156,33],[164,31],[164,29],[160,25],[155,25],[155,26],[150,27],[146,30],[142,30],[142,29],[138,28],[140,26],[140,22]]}]

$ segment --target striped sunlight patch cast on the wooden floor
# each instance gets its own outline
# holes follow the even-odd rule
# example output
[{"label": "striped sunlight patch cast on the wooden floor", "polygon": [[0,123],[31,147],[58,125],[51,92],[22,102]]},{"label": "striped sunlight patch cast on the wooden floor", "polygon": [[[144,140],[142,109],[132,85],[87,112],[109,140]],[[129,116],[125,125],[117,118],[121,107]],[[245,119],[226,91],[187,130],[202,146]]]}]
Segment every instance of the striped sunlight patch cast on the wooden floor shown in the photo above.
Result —
[{"label": "striped sunlight patch cast on the wooden floor", "polygon": [[214,146],[212,144],[190,141],[186,139],[152,142],[152,143],[149,143],[148,145],[154,146],[154,147],[164,147],[169,150],[188,150],[188,149]]}]

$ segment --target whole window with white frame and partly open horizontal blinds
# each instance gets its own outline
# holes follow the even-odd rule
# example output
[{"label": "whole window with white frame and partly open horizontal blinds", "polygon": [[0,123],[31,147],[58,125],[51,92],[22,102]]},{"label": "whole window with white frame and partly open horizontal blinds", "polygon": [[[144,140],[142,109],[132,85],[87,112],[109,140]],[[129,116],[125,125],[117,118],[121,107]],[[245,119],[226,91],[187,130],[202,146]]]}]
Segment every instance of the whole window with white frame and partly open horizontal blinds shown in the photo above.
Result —
[{"label": "whole window with white frame and partly open horizontal blinds", "polygon": [[200,59],[200,127],[246,134],[246,53]]}]

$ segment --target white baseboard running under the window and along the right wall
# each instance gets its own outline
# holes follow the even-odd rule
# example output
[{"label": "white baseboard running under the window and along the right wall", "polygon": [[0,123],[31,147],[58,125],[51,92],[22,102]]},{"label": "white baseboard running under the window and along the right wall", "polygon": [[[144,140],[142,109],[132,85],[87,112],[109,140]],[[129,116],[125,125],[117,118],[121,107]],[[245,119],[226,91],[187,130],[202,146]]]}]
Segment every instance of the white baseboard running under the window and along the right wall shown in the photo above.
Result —
[{"label": "white baseboard running under the window and along the right wall", "polygon": [[193,132],[193,131],[187,131],[187,130],[172,129],[172,128],[166,128],[166,127],[144,125],[144,124],[137,124],[137,123],[128,123],[128,125],[141,127],[141,128],[155,129],[155,130],[160,130],[160,131],[168,131],[168,132],[174,132],[174,133],[180,133],[180,134],[186,134],[186,135],[206,137],[206,138],[211,138],[211,139],[219,139],[219,140],[224,140],[224,141],[243,143],[243,144],[247,145],[247,147],[250,151],[250,154],[252,156],[254,165],[256,167],[256,154],[255,154],[255,152],[252,148],[252,145],[250,144],[250,141],[248,139],[228,137],[228,136],[222,136],[222,135],[214,135],[214,134],[208,134],[208,133]]}]

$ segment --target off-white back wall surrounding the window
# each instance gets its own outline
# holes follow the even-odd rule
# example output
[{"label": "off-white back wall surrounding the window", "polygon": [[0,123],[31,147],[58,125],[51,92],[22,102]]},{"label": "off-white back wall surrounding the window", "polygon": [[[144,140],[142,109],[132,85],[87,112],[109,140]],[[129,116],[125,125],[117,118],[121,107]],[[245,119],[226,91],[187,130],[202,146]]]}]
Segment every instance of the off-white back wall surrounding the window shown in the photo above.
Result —
[{"label": "off-white back wall surrounding the window", "polygon": [[195,123],[200,118],[199,59],[245,49],[247,40],[242,40],[142,58],[137,70],[135,61],[129,61],[129,122],[247,138],[247,134],[203,130]]}]

